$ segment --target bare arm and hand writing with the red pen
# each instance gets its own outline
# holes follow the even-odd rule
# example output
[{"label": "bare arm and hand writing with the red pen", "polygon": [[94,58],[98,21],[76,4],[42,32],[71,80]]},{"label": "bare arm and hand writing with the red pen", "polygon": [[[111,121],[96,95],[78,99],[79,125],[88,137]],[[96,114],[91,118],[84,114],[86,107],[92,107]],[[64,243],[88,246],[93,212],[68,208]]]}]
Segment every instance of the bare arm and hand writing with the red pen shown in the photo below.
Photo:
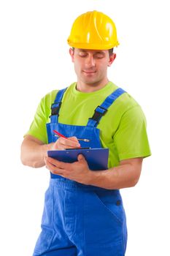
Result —
[{"label": "bare arm and hand writing with the red pen", "polygon": [[45,165],[47,151],[53,149],[77,148],[80,146],[77,138],[59,138],[55,143],[45,144],[31,135],[26,135],[21,145],[20,159],[23,165],[42,167]]}]

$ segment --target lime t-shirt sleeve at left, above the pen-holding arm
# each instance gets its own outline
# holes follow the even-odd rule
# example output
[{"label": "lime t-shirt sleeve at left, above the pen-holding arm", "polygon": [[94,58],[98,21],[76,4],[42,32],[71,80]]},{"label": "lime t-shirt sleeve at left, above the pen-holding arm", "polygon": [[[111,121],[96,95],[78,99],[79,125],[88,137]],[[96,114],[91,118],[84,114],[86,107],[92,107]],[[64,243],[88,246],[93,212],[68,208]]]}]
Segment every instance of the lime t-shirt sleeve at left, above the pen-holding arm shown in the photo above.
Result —
[{"label": "lime t-shirt sleeve at left, above the pen-holding arm", "polygon": [[[36,109],[36,113],[34,116],[34,120],[31,123],[28,132],[26,135],[32,135],[38,140],[41,140],[43,143],[47,143],[47,131],[46,131],[46,123],[47,123],[47,108],[45,108],[45,97],[39,102],[39,105]],[[49,114],[50,115],[50,114]]]}]

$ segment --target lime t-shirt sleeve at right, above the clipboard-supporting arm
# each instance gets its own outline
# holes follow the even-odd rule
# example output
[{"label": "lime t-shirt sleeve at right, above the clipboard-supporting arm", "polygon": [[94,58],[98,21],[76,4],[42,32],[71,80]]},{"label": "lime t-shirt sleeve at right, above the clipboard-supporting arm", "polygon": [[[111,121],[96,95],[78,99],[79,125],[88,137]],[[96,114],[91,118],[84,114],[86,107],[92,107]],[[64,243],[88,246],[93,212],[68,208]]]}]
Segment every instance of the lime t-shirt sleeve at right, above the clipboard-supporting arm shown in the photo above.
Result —
[{"label": "lime t-shirt sleeve at right, above the clipboard-supporting arm", "polygon": [[146,118],[139,105],[123,114],[114,140],[120,160],[151,155]]}]

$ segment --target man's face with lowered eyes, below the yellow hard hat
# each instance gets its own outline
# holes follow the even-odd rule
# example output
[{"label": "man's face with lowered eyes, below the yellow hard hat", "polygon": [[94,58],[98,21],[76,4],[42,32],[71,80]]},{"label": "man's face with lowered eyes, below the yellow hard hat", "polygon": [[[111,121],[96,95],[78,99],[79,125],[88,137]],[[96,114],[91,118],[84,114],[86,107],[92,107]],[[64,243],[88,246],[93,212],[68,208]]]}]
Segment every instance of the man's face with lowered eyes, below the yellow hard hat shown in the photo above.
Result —
[{"label": "man's face with lowered eyes, below the yellow hard hat", "polygon": [[84,50],[72,48],[69,53],[74,62],[77,83],[88,86],[99,86],[108,83],[107,67],[112,65],[115,53],[109,56],[108,50]]}]

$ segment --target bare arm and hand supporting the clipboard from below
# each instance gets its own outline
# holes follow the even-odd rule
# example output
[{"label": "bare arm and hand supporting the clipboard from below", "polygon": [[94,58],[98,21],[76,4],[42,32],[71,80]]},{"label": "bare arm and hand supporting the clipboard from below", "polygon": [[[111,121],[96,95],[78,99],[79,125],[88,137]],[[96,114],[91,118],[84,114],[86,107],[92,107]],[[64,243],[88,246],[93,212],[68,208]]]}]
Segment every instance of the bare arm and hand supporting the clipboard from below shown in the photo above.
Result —
[{"label": "bare arm and hand supporting the clipboard from below", "polygon": [[139,181],[142,170],[142,157],[125,159],[120,161],[117,167],[109,170],[92,171],[82,155],[78,156],[78,161],[72,164],[60,162],[47,157],[45,159],[47,168],[54,174],[72,179],[82,184],[93,185],[105,189],[122,189],[134,187]]}]

